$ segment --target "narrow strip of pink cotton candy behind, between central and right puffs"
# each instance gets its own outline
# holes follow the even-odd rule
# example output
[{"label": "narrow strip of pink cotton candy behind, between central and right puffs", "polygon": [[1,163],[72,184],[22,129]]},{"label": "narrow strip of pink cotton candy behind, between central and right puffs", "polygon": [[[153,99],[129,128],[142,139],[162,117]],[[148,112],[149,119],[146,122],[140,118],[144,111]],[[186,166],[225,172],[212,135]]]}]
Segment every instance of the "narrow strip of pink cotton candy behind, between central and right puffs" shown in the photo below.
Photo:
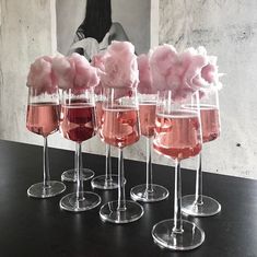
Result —
[{"label": "narrow strip of pink cotton candy behind, between central and right puffs", "polygon": [[140,55],[137,60],[139,69],[138,92],[141,94],[156,94],[157,91],[153,87],[148,55]]}]

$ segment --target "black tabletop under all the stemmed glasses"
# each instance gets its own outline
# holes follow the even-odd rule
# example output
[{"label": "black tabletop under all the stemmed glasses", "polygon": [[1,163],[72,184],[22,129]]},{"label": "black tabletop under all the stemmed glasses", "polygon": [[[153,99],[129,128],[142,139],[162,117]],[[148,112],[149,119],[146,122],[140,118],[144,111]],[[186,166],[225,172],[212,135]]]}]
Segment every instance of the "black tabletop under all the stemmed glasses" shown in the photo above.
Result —
[{"label": "black tabletop under all the stemmed glasses", "polygon": [[[50,149],[51,178],[59,179],[73,165],[73,152]],[[104,174],[104,156],[84,154],[84,164]],[[117,160],[114,160],[114,164]],[[153,243],[152,226],[173,217],[174,173],[154,165],[154,180],[170,189],[170,198],[144,203],[144,215],[137,222],[116,225],[103,223],[100,207],[81,213],[59,209],[61,196],[33,199],[26,189],[42,179],[42,148],[0,141],[0,256],[1,257],[102,257],[102,256],[257,256],[257,182],[205,174],[205,192],[222,205],[220,214],[189,220],[206,232],[205,243],[190,252],[161,249]],[[126,191],[144,182],[144,163],[126,161]],[[195,173],[183,171],[183,194],[194,192]],[[67,192],[74,190],[67,184]],[[90,183],[84,184],[91,190]],[[95,190],[102,202],[117,198],[116,190]],[[63,195],[63,194],[62,194]]]}]

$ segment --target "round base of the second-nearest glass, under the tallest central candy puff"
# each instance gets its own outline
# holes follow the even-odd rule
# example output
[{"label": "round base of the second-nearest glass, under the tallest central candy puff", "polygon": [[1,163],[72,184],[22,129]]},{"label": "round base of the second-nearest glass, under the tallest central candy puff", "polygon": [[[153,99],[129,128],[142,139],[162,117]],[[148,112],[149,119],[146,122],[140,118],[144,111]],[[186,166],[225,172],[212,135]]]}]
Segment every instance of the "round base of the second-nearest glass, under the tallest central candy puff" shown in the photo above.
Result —
[{"label": "round base of the second-nearest glass, under the tallest central candy puff", "polygon": [[126,200],[126,209],[117,210],[118,201],[109,201],[102,206],[100,217],[103,221],[124,224],[139,220],[143,215],[143,208],[135,202]]}]

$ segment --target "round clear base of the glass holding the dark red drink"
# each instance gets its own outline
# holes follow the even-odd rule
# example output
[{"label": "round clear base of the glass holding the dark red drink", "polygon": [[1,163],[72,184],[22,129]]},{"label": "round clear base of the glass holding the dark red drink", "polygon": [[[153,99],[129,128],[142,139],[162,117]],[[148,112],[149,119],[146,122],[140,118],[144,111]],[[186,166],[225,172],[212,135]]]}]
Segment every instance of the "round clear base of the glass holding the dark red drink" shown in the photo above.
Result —
[{"label": "round clear base of the glass holding the dark red drink", "polygon": [[101,198],[98,195],[91,191],[81,191],[80,198],[82,200],[77,200],[77,194],[72,192],[61,198],[60,208],[66,211],[87,211],[101,203]]}]

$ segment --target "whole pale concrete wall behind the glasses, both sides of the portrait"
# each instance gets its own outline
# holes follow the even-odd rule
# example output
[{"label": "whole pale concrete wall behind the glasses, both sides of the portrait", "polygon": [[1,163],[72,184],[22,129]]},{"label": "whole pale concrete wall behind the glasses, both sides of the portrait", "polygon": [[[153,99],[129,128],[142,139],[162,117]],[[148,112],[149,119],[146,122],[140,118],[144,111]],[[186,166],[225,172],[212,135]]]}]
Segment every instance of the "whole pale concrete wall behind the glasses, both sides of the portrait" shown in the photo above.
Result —
[{"label": "whole pale concrete wall behind the glasses, both sides of the portrait", "polygon": [[[55,1],[0,3],[0,138],[42,144],[42,138],[25,128],[25,83],[30,63],[37,56],[55,51]],[[160,0],[160,43],[178,48],[205,45],[210,54],[219,56],[220,70],[227,73],[220,93],[222,135],[203,151],[203,170],[208,172],[257,178],[256,13],[254,0]],[[73,149],[73,143],[58,133],[49,137],[49,144]],[[84,151],[103,154],[104,145],[95,137],[84,143]],[[125,149],[125,156],[143,160],[144,139]],[[155,153],[153,160],[171,164]],[[195,160],[183,165],[194,167]]]}]

